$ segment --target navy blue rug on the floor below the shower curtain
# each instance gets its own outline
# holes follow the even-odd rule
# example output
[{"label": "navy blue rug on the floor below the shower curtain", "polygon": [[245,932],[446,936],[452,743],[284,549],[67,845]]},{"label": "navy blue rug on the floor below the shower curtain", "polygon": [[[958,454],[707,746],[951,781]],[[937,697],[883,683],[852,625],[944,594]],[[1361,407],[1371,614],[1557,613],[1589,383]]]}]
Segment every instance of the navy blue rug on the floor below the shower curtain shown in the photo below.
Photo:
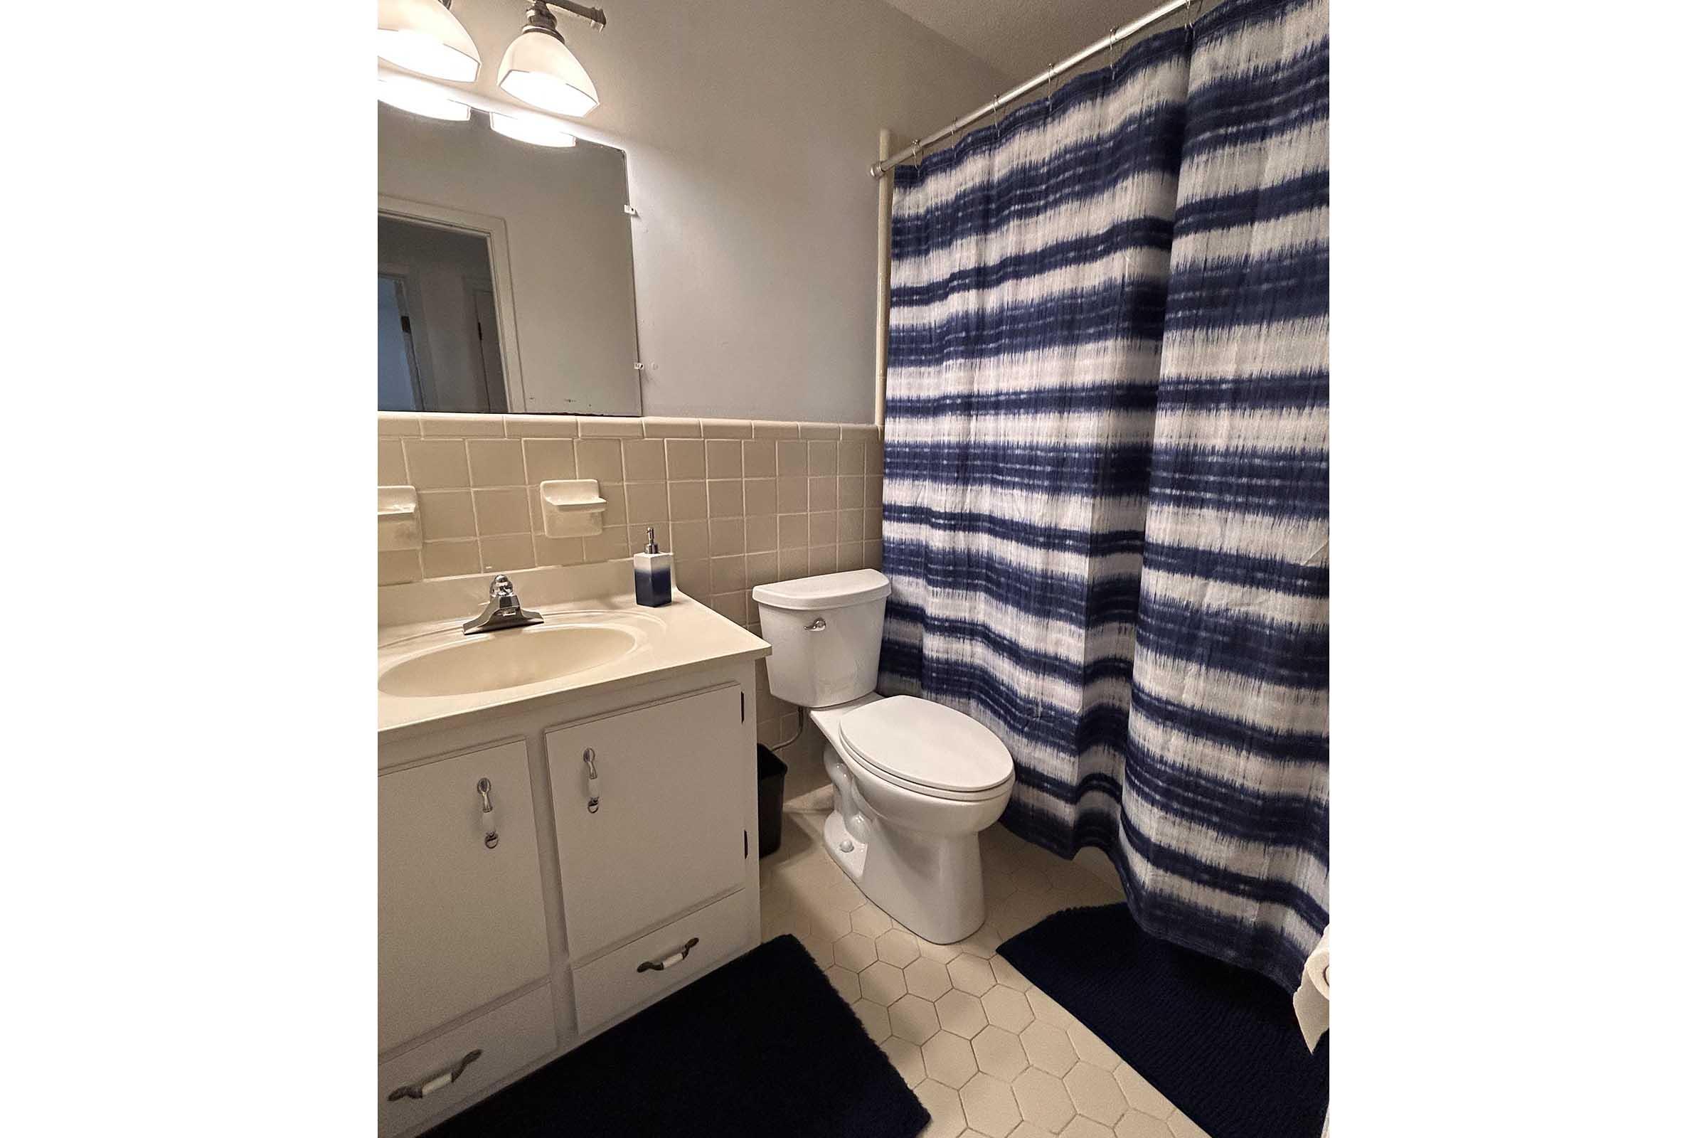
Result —
[{"label": "navy blue rug on the floor below the shower curtain", "polygon": [[1311,1054],[1267,976],[1151,937],[1125,904],[1065,909],[1000,954],[1210,1138],[1321,1138],[1328,1037]]}]

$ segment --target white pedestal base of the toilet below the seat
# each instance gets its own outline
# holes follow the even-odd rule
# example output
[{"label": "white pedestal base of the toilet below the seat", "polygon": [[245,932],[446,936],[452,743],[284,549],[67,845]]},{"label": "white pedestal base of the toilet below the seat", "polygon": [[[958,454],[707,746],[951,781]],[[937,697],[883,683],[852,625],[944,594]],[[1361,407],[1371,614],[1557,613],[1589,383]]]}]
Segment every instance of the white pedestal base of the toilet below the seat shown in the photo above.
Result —
[{"label": "white pedestal base of the toilet below the seat", "polygon": [[956,943],[978,932],[983,925],[978,834],[912,834],[877,819],[867,819],[867,841],[854,838],[836,809],[824,819],[823,841],[830,860],[872,904],[930,943]]}]

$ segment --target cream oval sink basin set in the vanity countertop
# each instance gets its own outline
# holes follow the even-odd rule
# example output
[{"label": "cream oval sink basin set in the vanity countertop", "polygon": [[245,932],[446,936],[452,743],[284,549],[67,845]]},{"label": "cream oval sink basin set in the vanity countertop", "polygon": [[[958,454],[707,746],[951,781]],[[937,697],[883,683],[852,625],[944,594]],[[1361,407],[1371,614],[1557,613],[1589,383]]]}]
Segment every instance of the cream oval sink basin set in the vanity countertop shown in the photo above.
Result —
[{"label": "cream oval sink basin set in the vanity countertop", "polygon": [[466,696],[558,679],[621,659],[640,647],[626,628],[545,624],[476,633],[393,664],[379,674],[387,696]]}]

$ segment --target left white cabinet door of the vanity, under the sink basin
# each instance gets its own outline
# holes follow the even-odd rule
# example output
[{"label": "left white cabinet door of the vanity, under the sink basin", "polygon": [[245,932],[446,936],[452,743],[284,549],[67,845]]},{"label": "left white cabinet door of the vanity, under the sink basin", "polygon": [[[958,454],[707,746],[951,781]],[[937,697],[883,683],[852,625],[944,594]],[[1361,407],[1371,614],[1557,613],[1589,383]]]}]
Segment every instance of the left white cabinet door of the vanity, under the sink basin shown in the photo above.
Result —
[{"label": "left white cabinet door of the vanity, under the sink basin", "polygon": [[526,744],[381,775],[379,1049],[548,971]]}]

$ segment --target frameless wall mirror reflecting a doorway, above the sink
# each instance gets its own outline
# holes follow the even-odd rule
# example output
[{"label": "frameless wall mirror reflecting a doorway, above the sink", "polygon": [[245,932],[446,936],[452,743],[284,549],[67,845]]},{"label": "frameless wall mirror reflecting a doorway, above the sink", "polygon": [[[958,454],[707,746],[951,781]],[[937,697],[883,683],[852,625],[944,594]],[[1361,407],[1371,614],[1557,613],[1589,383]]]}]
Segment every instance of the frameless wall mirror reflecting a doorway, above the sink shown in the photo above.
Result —
[{"label": "frameless wall mirror reflecting a doorway, above the sink", "polygon": [[379,107],[379,409],[640,415],[626,157]]}]

